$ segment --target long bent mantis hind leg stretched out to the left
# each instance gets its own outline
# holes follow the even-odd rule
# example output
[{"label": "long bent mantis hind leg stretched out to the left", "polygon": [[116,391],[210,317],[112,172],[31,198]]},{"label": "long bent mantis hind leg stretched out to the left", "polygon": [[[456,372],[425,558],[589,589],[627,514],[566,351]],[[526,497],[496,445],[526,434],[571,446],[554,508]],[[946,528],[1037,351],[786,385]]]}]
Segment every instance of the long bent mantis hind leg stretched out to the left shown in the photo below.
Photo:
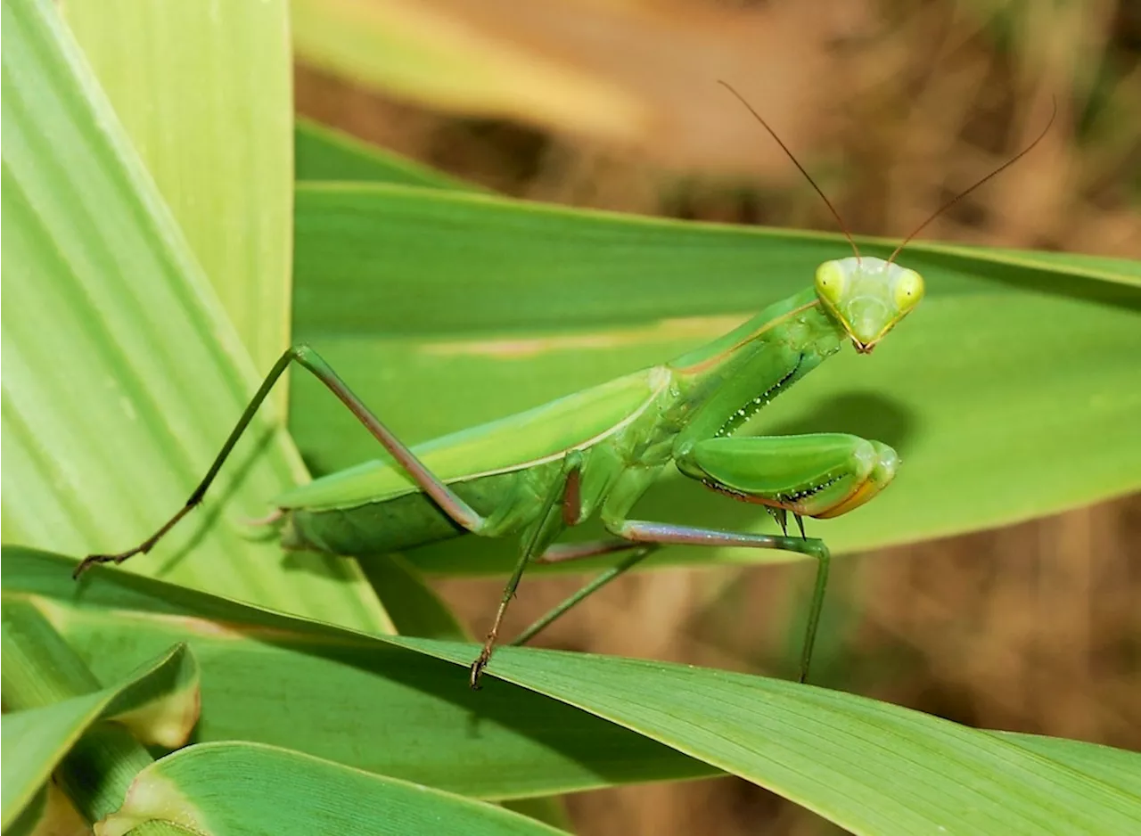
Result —
[{"label": "long bent mantis hind leg stretched out to the left", "polygon": [[194,492],[191,494],[189,498],[187,498],[186,504],[184,504],[183,508],[180,508],[169,520],[160,526],[154,534],[133,549],[128,549],[127,551],[119,552],[116,554],[89,554],[83,559],[83,562],[75,567],[75,571],[72,573],[72,577],[79,577],[87,568],[94,566],[95,563],[121,563],[136,554],[146,554],[160,539],[163,538],[163,536],[165,536],[171,528],[178,523],[179,520],[196,508],[202,502],[202,497],[205,496],[205,493],[210,488],[215,478],[218,476],[218,471],[221,470],[221,465],[234,451],[234,446],[237,444],[237,440],[249,428],[254,414],[258,412],[258,408],[261,406],[262,401],[265,401],[266,397],[268,397],[270,390],[274,388],[274,384],[285,373],[285,370],[289,368],[290,364],[294,362],[310,372],[317,380],[324,383],[333,395],[340,398],[341,403],[349,408],[349,411],[362,424],[364,424],[369,432],[373,435],[373,438],[385,446],[385,449],[387,449],[400,464],[400,466],[407,471],[413,481],[415,481],[416,485],[424,490],[424,493],[431,496],[444,513],[455,520],[458,525],[467,528],[469,531],[472,531],[474,534],[480,533],[487,520],[477,513],[475,509],[472,509],[443,481],[440,481],[435,473],[428,470],[428,468],[426,468],[423,463],[416,458],[415,454],[408,449],[407,445],[400,441],[400,439],[398,439],[393,431],[389,430],[367,406],[365,406],[364,401],[361,400],[361,398],[357,397],[351,389],[349,389],[348,384],[340,379],[337,372],[334,372],[327,363],[325,363],[321,355],[308,346],[299,344],[288,349],[278,358],[277,363],[274,364],[274,367],[269,370],[269,374],[266,375],[266,379],[261,382],[258,391],[250,399],[249,405],[245,407],[241,417],[238,417],[234,429],[230,430],[229,437],[222,445],[221,451],[219,451],[218,455],[210,464],[210,469],[202,478],[202,481],[199,482],[199,486],[194,488]]}]

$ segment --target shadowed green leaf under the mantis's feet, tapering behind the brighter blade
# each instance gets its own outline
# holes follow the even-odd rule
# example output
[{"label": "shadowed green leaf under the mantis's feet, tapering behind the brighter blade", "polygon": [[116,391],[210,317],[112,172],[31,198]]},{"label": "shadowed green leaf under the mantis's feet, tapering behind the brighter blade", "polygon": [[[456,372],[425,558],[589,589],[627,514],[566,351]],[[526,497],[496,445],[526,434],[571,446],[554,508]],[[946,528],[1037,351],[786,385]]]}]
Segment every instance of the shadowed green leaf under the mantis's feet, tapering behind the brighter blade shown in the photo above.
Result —
[{"label": "shadowed green leaf under the mantis's feet, tapering behind the brighter blade", "polygon": [[175,642],[193,648],[199,741],[284,746],[492,800],[715,774],[526,689],[476,693],[453,666],[404,648],[122,571],[92,571],[80,590],[73,565],[0,546],[0,591],[47,607],[103,681]]}]

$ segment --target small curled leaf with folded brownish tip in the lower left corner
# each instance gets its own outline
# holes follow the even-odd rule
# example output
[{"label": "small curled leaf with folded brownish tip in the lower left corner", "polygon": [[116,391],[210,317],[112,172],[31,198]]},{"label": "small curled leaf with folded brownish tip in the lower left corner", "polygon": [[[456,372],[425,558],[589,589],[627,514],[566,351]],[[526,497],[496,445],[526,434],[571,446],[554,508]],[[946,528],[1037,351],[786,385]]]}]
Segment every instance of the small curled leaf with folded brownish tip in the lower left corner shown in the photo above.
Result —
[{"label": "small curled leaf with folded brownish tip in the lower left corner", "polygon": [[0,715],[0,831],[7,833],[80,736],[102,717],[132,713],[170,697],[183,704],[196,682],[194,657],[176,646],[115,685],[39,708]]}]

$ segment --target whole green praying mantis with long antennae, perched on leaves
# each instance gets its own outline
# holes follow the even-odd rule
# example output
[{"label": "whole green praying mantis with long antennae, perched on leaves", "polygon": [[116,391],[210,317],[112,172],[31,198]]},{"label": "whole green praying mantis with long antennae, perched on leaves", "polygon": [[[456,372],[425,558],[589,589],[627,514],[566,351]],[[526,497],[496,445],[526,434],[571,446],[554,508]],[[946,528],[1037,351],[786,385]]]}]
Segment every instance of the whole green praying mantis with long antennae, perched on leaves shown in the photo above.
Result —
[{"label": "whole green praying mantis with long antennae, perched on leaves", "polygon": [[[920,274],[896,263],[904,246],[952,203],[1028,153],[1050,124],[1015,156],[941,206],[884,260],[860,255],[839,213],[795,156],[748,103],[726,87],[827,204],[852,257],[826,261],[811,286],[669,363],[415,447],[400,441],[316,351],[294,346],[273,366],[186,504],[133,549],[88,555],[74,576],[95,563],[121,563],[148,552],[197,506],[262,400],[297,363],[348,407],[393,461],[367,462],[278,496],[274,505],[284,547],[367,558],[469,533],[519,537],[518,561],[471,665],[472,688],[479,688],[508,604],[529,563],[625,553],[524,631],[517,644],[666,544],[775,549],[816,560],[800,659],[803,682],[824,604],[830,553],[824,541],[806,536],[802,518],[826,519],[859,508],[891,482],[899,457],[884,444],[845,433],[739,437],[735,432],[844,343],[871,354],[923,298]],[[671,465],[712,490],[764,506],[782,534],[632,517],[638,500]],[[788,535],[788,514],[800,536]],[[568,527],[596,516],[609,538],[557,542]]]}]

